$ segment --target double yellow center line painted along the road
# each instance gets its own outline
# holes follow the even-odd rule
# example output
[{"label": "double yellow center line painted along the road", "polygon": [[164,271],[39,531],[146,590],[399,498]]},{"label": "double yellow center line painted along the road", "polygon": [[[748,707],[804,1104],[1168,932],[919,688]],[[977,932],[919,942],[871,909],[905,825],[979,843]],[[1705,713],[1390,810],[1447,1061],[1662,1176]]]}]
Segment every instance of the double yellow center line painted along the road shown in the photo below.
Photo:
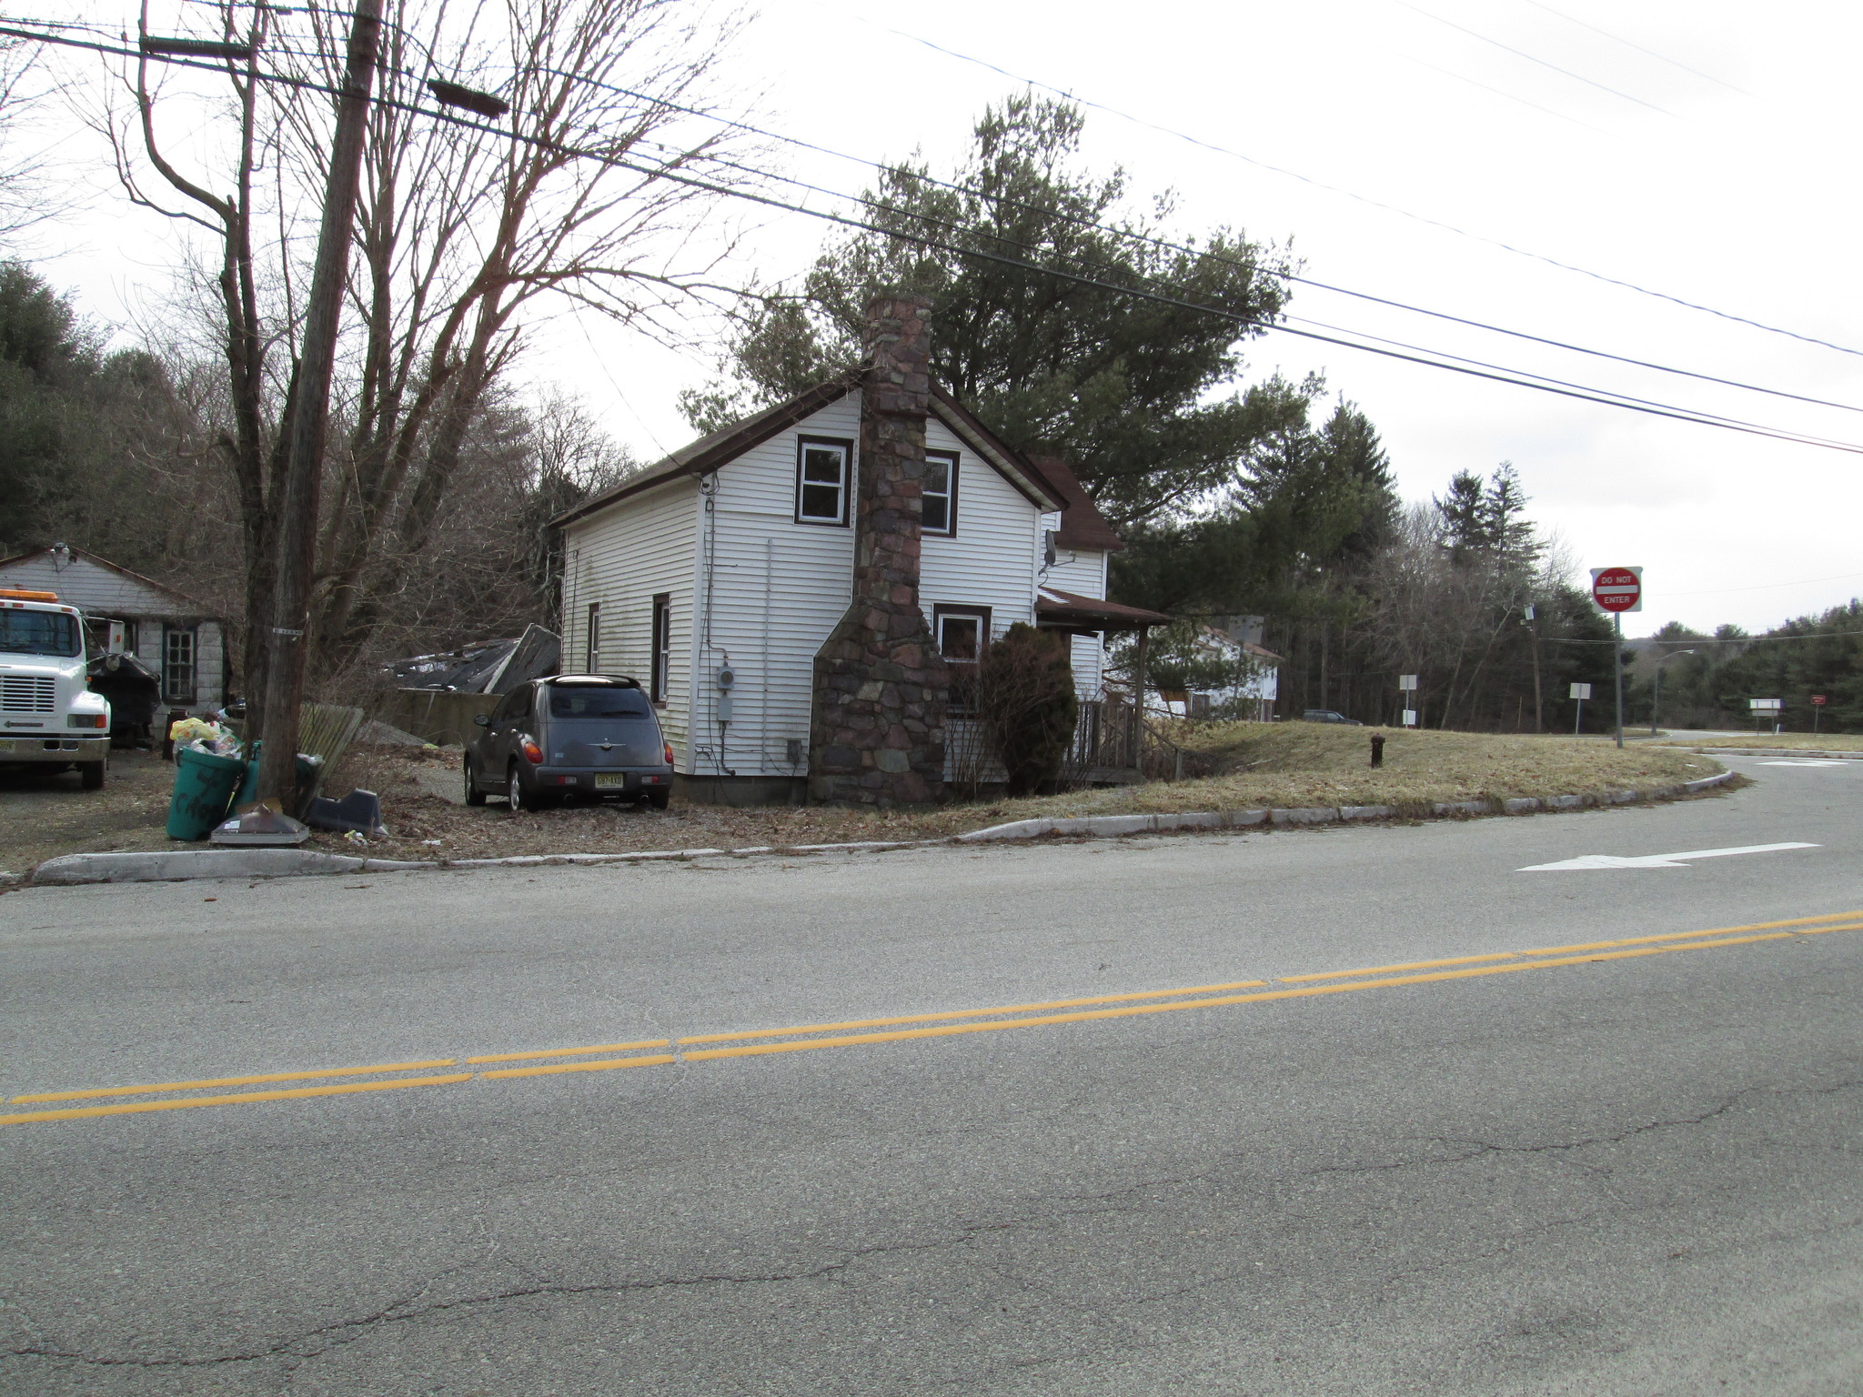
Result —
[{"label": "double yellow center line painted along the road", "polygon": [[[324,1071],[257,1073],[250,1077],[209,1077],[194,1082],[155,1082],[147,1086],[102,1086],[80,1092],[30,1092],[9,1105],[34,1105],[39,1110],[0,1114],[0,1125],[28,1121],[63,1121],[86,1116],[123,1116],[149,1110],[186,1110],[190,1106],[233,1106],[257,1101],[296,1101],[302,1097],[348,1095],[354,1092],[393,1092],[406,1086],[451,1086],[471,1080],[503,1080],[516,1077],[555,1077],[561,1073],[613,1071],[620,1067],[663,1067],[712,1058],[749,1058],[769,1052],[807,1052],[809,1049],[864,1047],[900,1043],[918,1038],[952,1038],[956,1034],[987,1034],[1000,1028],[1043,1028],[1095,1019],[1129,1019],[1144,1013],[1172,1013],[1177,1010],[1213,1010],[1233,1004],[1261,1004],[1282,998],[1312,998],[1317,995],[1349,995],[1360,989],[1394,989],[1399,985],[1427,985],[1446,980],[1472,980],[1515,970],[1543,970],[1561,965],[1597,965],[1638,956],[1664,956],[1677,950],[1708,950],[1714,946],[1747,946],[1761,941],[1790,941],[1822,935],[1824,931],[1863,929],[1863,911],[1833,913],[1829,916],[1796,916],[1783,922],[1751,922],[1707,931],[1671,931],[1652,937],[1623,937],[1617,941],[1587,941],[1569,946],[1537,946],[1533,950],[1503,950],[1489,956],[1451,956],[1435,961],[1405,961],[1401,965],[1369,965],[1356,970],[1319,970],[1287,974],[1276,982],[1231,980],[1218,985],[1185,985],[1179,989],[1142,989],[1127,995],[1088,995],[1034,1004],[999,1004],[987,1010],[946,1010],[943,1013],[905,1013],[885,1019],[846,1019],[840,1023],[799,1024],[794,1028],[758,1028],[751,1032],[693,1034],[689,1038],[637,1039],[632,1043],[598,1043],[592,1047],[550,1049],[542,1052],[490,1052],[477,1058],[428,1058],[421,1062],[382,1062],[369,1067],[330,1067]],[[1284,985],[1271,989],[1271,983]],[[1248,993],[1231,993],[1248,991]],[[1094,1008],[1097,1006],[1097,1008]],[[1064,1010],[1047,1013],[1047,1010]],[[667,1049],[652,1052],[650,1049]],[[607,1058],[605,1052],[628,1056]],[[564,1062],[574,1058],[574,1062]],[[499,1062],[527,1062],[527,1067],[492,1067]],[[468,1071],[386,1077],[386,1073],[427,1073],[432,1067]],[[378,1080],[328,1082],[326,1078],[376,1077]],[[173,1092],[212,1092],[225,1086],[259,1086],[263,1082],[324,1080],[322,1086],[292,1086],[265,1092],[229,1092],[214,1095],[162,1095]],[[114,1097],[158,1095],[156,1101],[116,1101]],[[108,1105],[52,1106],[61,1101],[108,1101]],[[50,1106],[50,1108],[47,1108]]]}]

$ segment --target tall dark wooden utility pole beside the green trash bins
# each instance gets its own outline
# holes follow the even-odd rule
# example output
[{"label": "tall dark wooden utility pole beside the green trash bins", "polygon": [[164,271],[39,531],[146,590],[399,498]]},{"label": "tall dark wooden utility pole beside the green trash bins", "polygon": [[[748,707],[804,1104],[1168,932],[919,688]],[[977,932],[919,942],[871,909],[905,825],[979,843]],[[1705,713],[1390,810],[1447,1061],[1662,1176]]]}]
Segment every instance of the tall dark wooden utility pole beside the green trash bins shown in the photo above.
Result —
[{"label": "tall dark wooden utility pole beside the green trash bins", "polygon": [[369,89],[374,84],[376,52],[382,43],[382,0],[354,0],[354,6],[343,95],[337,99],[330,181],[324,186],[324,220],[317,235],[317,264],[304,315],[304,343],[285,414],[289,451],[278,510],[278,600],[266,635],[272,663],[266,665],[265,682],[259,803],[274,816],[266,821],[265,833],[292,842],[304,838],[302,827],[289,816],[296,784],[298,704],[304,702],[311,574],[317,568],[317,514],[330,423],[330,378],[343,315],[343,287],[348,279],[361,147],[369,125]]}]

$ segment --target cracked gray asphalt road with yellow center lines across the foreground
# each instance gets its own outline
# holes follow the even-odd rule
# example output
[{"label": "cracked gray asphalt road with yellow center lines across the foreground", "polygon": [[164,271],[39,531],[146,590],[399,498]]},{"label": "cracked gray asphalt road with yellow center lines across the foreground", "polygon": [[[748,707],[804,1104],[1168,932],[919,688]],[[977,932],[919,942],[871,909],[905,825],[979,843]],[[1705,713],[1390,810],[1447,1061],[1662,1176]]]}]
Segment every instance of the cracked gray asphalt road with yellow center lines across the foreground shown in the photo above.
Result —
[{"label": "cracked gray asphalt road with yellow center lines across the foreground", "polygon": [[0,896],[0,1391],[1863,1393],[1863,762],[1734,764]]}]

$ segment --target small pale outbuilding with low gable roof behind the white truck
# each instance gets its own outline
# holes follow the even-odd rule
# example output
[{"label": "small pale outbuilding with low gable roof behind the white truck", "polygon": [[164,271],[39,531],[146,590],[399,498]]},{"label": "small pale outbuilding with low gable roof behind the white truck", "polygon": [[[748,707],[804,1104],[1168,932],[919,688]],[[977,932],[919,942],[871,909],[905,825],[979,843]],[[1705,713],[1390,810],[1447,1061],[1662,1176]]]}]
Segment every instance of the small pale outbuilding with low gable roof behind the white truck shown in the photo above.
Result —
[{"label": "small pale outbuilding with low gable roof behind the white truck", "polygon": [[93,652],[132,654],[162,676],[170,708],[225,702],[225,624],[192,596],[61,544],[0,559],[0,587],[58,592],[84,613]]}]

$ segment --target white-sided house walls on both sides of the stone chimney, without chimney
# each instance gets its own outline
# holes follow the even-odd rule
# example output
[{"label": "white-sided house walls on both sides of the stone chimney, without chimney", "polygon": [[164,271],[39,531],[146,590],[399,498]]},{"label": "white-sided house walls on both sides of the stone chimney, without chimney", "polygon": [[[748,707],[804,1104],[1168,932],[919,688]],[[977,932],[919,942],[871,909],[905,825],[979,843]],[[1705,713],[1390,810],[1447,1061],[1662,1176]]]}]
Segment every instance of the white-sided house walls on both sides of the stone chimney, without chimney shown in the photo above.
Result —
[{"label": "white-sided house walls on both sides of the stone chimney, without chimney", "polygon": [[[563,667],[635,676],[702,799],[799,799],[810,775],[816,658],[853,598],[872,382],[820,384],[555,520]],[[1071,471],[1010,449],[935,384],[918,400],[917,604],[939,654],[974,661],[1015,622],[1062,630],[1097,700],[1103,631],[1166,617],[1105,602],[1120,540]]]}]

